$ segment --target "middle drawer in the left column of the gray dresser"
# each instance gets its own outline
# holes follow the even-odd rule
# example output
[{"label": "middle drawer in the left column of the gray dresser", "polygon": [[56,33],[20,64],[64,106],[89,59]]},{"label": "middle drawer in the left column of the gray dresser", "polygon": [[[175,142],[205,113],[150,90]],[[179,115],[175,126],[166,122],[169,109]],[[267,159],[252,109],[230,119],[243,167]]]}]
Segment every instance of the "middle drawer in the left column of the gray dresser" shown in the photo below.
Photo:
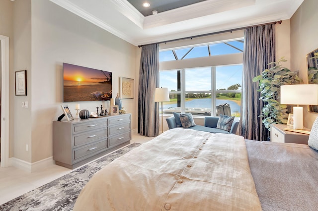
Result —
[{"label": "middle drawer in the left column of the gray dresser", "polygon": [[78,145],[82,145],[82,144],[86,144],[89,142],[93,142],[97,139],[106,138],[107,136],[107,128],[100,128],[98,130],[94,130],[94,131],[89,131],[87,133],[84,134],[79,134],[79,135],[75,135],[74,136],[74,146],[78,146]]}]

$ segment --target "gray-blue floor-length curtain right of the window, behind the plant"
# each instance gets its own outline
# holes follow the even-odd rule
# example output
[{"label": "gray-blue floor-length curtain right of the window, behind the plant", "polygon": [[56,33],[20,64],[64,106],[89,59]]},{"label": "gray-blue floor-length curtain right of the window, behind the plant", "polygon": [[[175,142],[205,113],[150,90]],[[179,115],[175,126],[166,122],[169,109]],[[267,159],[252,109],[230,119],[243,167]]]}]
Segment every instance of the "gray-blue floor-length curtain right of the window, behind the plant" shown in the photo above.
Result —
[{"label": "gray-blue floor-length curtain right of the window, behind the plant", "polygon": [[246,28],[244,32],[243,79],[240,108],[240,135],[245,139],[266,141],[268,129],[263,126],[263,102],[257,92],[255,76],[275,61],[275,24]]}]

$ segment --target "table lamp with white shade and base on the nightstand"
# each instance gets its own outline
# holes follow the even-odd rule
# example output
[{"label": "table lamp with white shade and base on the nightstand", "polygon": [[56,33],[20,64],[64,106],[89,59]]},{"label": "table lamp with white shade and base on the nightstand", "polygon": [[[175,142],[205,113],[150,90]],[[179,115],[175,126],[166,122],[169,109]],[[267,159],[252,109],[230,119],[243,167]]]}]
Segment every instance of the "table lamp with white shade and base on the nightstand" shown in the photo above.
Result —
[{"label": "table lamp with white shade and base on the nightstand", "polygon": [[297,105],[294,110],[294,129],[303,129],[303,107],[318,105],[318,84],[294,84],[280,87],[280,103]]}]

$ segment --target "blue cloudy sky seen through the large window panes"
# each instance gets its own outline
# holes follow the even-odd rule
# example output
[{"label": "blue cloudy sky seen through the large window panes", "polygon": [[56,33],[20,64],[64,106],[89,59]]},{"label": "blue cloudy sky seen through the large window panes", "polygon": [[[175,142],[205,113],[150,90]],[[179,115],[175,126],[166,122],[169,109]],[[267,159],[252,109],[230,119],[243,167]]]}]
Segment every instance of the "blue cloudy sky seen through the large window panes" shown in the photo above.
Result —
[{"label": "blue cloudy sky seen through the large window panes", "polygon": [[[243,50],[243,43],[238,41],[228,42],[230,45]],[[209,45],[211,55],[239,53],[224,43]],[[191,48],[178,49],[175,53],[181,59]],[[209,56],[208,45],[193,48],[186,58]],[[175,60],[172,51],[160,52],[160,61]],[[192,68],[185,70],[186,90],[185,91],[208,91],[211,90],[211,67]],[[234,84],[242,84],[242,65],[217,66],[216,67],[216,89],[228,89]],[[177,90],[177,70],[160,71],[160,87],[167,87],[168,90]]]}]

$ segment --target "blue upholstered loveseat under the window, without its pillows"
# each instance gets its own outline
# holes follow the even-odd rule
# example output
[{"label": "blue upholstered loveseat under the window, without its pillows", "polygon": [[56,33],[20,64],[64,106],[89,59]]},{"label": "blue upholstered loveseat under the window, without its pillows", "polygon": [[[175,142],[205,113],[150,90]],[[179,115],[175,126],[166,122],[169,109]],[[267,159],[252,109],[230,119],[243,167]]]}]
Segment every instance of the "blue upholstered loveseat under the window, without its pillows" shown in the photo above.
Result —
[{"label": "blue upholstered loveseat under the window, without its pillows", "polygon": [[[166,118],[165,120],[168,123],[169,129],[177,128],[177,124],[175,122],[174,116],[170,116],[170,117]],[[218,116],[217,117],[206,116],[204,119],[204,126],[195,125],[193,127],[189,127],[188,129],[200,130],[200,131],[205,131],[205,132],[210,132],[210,133],[233,133],[233,134],[237,133],[237,129],[239,126],[238,120],[234,119],[230,132],[228,132],[226,130],[218,129],[217,128],[218,120],[219,120]],[[179,127],[179,128],[182,128],[182,127]]]}]

